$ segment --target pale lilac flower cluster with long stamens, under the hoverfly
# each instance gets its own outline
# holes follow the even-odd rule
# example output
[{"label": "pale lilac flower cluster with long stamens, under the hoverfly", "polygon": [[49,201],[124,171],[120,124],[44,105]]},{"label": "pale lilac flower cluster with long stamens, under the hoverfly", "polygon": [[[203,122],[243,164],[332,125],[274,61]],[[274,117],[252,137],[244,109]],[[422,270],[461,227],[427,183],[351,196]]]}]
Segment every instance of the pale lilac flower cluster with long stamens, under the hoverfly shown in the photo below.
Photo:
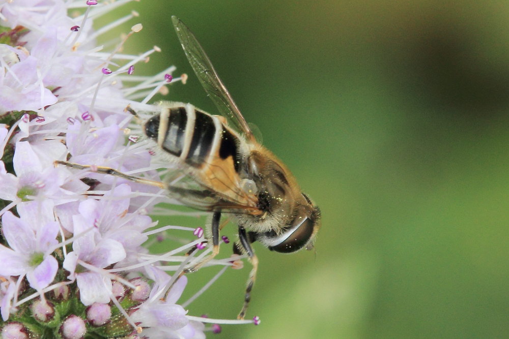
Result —
[{"label": "pale lilac flower cluster with long stamens, under the hoverfly", "polygon": [[[152,151],[131,135],[129,107],[155,111],[152,96],[183,80],[173,67],[132,75],[159,51],[119,53],[140,24],[112,51],[96,45],[137,14],[97,31],[93,20],[129,1],[0,0],[2,337],[201,338],[219,330],[204,325],[217,320],[187,315],[182,305],[190,301],[177,303],[203,231],[154,228],[147,214],[166,199],[163,190],[96,173],[108,167],[160,180]],[[81,14],[70,17],[71,8]],[[150,235],[173,229],[198,235],[160,255],[144,247]],[[169,261],[180,264],[162,265]],[[221,273],[231,265],[210,264],[222,265]]]}]

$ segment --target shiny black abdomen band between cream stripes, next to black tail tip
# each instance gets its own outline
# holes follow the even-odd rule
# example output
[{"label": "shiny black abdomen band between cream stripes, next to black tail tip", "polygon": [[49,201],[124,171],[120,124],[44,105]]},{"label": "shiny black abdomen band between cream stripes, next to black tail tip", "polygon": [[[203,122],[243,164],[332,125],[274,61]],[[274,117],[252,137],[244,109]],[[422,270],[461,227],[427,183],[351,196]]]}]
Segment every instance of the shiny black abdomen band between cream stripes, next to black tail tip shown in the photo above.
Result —
[{"label": "shiny black abdomen band between cream stripes, next to black tail tip", "polygon": [[168,129],[161,145],[162,149],[180,157],[184,148],[187,113],[184,107],[169,110]]}]

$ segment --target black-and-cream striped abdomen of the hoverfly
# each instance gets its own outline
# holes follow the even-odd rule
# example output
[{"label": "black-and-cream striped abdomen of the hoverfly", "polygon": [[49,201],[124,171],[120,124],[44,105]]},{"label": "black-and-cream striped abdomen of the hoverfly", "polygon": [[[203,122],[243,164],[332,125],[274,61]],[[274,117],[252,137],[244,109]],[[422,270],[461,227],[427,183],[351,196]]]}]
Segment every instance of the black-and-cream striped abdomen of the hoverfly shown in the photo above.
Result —
[{"label": "black-and-cream striped abdomen of the hoverfly", "polygon": [[239,170],[238,136],[226,129],[217,117],[192,105],[169,108],[153,116],[145,124],[145,134],[190,166],[201,168],[214,159],[232,157],[235,171]]}]

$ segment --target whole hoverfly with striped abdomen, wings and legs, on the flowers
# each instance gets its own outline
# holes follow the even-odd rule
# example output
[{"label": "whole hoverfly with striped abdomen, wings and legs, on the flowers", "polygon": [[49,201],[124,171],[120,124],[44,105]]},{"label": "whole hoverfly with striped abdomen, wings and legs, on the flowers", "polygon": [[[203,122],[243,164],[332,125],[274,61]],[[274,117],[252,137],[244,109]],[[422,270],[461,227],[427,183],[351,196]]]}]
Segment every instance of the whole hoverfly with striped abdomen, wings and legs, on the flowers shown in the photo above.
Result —
[{"label": "whole hoverfly with striped abdomen, wings and legs, on the flowers", "polygon": [[192,69],[221,115],[208,114],[191,104],[161,103],[160,111],[144,122],[146,137],[179,167],[177,179],[168,176],[164,182],[154,182],[111,168],[98,167],[95,171],[156,183],[185,205],[213,213],[208,239],[212,253],[187,267],[186,272],[199,269],[219,253],[221,214],[230,213],[238,225],[239,241],[234,244],[234,252],[247,254],[252,264],[238,316],[243,319],[258,268],[251,243],[258,240],[269,250],[281,253],[313,249],[320,210],[301,192],[288,168],[256,140],[189,28],[175,16],[172,20]]}]

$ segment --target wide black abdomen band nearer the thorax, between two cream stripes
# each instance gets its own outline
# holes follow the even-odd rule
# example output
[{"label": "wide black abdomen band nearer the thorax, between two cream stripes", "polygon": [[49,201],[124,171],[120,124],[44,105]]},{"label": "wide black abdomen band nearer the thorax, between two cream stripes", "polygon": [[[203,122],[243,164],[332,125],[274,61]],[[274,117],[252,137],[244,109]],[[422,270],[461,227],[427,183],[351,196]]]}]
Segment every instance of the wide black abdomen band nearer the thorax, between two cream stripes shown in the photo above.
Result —
[{"label": "wide black abdomen band nearer the thorax, between two cream stripes", "polygon": [[200,167],[210,153],[216,127],[210,115],[197,110],[195,113],[194,133],[185,162],[191,166]]}]

